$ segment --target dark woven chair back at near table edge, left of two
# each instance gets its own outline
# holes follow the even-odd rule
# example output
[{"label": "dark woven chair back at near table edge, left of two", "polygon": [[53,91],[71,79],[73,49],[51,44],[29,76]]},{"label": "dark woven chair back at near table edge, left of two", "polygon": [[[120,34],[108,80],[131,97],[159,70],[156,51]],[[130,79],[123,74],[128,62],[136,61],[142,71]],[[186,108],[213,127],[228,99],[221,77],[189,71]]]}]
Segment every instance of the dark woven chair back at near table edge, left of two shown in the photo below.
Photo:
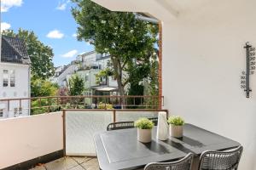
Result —
[{"label": "dark woven chair back at near table edge, left of two", "polygon": [[178,161],[148,163],[148,165],[144,167],[144,170],[190,170],[192,161],[193,154],[189,153]]}]

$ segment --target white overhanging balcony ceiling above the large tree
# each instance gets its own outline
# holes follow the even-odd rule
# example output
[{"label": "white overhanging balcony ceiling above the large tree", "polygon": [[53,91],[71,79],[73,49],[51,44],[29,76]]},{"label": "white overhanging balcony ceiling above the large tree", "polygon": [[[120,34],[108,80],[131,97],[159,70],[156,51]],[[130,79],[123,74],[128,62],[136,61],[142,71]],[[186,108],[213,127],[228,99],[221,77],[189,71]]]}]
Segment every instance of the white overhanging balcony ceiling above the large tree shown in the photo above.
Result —
[{"label": "white overhanging balcony ceiling above the large tree", "polygon": [[[180,14],[197,12],[209,6],[211,0],[92,0],[113,11],[143,12],[162,21],[173,20]],[[227,0],[214,0],[221,3]]]}]

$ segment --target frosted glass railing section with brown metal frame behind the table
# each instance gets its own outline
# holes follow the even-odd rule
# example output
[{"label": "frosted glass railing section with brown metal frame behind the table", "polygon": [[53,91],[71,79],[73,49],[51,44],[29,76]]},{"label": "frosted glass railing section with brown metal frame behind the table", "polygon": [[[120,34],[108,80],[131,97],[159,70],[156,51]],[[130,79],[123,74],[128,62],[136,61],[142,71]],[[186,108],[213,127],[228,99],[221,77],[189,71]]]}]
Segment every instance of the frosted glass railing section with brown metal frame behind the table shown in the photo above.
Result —
[{"label": "frosted glass railing section with brown metal frame behind the table", "polygon": [[93,136],[106,131],[111,122],[133,122],[140,117],[158,117],[157,109],[64,110],[63,150],[66,156],[96,156]]}]

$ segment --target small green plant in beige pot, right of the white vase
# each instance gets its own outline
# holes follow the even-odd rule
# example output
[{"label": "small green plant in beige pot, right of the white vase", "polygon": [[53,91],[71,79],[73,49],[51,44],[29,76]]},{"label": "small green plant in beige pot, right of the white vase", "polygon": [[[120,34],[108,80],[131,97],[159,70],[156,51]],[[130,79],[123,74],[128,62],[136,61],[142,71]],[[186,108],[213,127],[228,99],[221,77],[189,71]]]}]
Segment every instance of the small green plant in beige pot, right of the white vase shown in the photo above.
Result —
[{"label": "small green plant in beige pot, right of the white vase", "polygon": [[170,125],[170,136],[174,138],[183,137],[183,125],[185,122],[181,116],[170,116],[168,123]]}]

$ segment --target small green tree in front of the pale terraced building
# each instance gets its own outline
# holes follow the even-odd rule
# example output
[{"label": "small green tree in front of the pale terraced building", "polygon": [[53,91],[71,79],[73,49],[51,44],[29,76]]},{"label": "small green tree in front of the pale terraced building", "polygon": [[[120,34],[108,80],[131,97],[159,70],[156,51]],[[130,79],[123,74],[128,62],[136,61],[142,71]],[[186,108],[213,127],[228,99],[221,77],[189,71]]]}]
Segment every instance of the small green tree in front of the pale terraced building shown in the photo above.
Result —
[{"label": "small green tree in front of the pale terraced building", "polygon": [[68,81],[68,88],[70,95],[83,95],[84,93],[84,79],[79,75],[74,74]]}]

